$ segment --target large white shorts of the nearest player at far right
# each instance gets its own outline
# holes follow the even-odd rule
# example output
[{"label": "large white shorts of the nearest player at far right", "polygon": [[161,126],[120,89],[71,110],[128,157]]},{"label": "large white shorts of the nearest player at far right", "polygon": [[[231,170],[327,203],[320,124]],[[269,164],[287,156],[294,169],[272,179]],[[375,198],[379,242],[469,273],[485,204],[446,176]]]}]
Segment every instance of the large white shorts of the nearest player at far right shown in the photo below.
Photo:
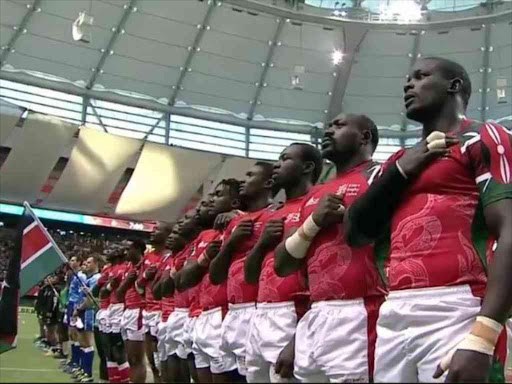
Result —
[{"label": "large white shorts of the nearest player at far right", "polygon": [[390,292],[377,322],[375,382],[444,382],[447,373],[432,375],[480,306],[468,285]]}]

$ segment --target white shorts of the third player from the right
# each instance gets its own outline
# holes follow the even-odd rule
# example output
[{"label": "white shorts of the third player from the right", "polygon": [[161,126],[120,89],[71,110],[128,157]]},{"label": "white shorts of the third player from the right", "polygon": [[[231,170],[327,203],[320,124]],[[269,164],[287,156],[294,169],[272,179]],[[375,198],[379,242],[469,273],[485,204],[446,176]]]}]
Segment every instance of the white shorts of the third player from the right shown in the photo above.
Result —
[{"label": "white shorts of the third player from the right", "polygon": [[[278,378],[275,363],[283,348],[295,335],[295,303],[258,303],[247,341],[247,382],[269,383]],[[291,382],[279,377],[278,382]]]}]

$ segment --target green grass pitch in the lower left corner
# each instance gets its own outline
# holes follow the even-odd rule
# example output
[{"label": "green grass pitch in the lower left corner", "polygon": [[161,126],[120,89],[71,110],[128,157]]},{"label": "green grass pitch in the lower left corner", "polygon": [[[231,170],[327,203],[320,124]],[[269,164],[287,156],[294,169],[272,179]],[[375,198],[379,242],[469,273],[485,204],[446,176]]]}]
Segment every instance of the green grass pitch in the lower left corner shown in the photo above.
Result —
[{"label": "green grass pitch in the lower left corner", "polygon": [[[59,360],[45,356],[32,343],[38,334],[35,314],[20,313],[18,346],[0,355],[0,383],[70,383],[59,370]],[[94,356],[94,378],[99,380],[98,355]]]}]

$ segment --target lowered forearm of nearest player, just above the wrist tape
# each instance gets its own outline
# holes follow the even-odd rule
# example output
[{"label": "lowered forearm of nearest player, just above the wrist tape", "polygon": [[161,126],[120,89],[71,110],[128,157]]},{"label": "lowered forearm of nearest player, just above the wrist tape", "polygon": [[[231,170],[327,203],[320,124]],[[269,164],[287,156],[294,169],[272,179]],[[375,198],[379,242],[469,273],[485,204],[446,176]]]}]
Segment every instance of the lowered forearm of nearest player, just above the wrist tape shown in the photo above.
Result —
[{"label": "lowered forearm of nearest player, just above the wrist tape", "polygon": [[498,240],[480,316],[504,323],[512,310],[512,227]]}]

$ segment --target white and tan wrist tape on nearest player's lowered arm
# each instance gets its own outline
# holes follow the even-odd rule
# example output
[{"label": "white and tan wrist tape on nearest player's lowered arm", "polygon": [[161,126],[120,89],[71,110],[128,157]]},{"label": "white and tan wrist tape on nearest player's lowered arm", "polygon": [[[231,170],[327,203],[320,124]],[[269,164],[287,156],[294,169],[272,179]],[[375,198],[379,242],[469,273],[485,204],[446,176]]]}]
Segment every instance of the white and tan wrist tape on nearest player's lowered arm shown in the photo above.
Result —
[{"label": "white and tan wrist tape on nearest player's lowered arm", "polygon": [[494,347],[502,330],[503,325],[497,321],[485,316],[477,316],[471,328],[471,333],[468,333],[466,337],[441,360],[439,364],[440,368],[443,372],[446,371],[450,367],[453,355],[459,349],[476,351],[493,356]]}]

